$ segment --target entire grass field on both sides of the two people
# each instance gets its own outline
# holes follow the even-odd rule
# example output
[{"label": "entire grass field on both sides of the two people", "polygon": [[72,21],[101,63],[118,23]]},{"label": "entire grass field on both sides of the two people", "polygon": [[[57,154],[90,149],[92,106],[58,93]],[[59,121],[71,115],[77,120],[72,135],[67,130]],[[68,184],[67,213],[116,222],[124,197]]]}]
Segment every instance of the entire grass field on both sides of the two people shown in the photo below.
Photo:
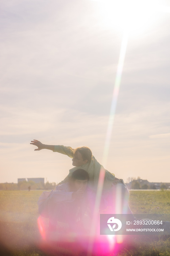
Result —
[{"label": "entire grass field on both sides of the two people", "polygon": [[[0,255],[47,255],[38,247],[41,238],[37,225],[37,201],[41,193],[0,191]],[[170,191],[130,191],[129,204],[134,214],[170,214]],[[55,255],[65,254],[59,252]],[[108,255],[114,256],[114,250]],[[170,236],[128,236],[116,255],[168,256]]]}]

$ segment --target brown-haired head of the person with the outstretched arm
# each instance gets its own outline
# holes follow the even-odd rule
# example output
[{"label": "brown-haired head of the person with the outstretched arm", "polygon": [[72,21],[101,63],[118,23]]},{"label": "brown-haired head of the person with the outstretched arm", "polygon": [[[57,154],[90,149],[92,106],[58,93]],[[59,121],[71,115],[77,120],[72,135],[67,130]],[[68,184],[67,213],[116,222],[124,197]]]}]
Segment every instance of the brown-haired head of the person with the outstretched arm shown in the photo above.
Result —
[{"label": "brown-haired head of the person with the outstretched arm", "polygon": [[77,147],[73,151],[73,166],[82,166],[85,163],[88,163],[92,159],[92,151],[89,147]]}]

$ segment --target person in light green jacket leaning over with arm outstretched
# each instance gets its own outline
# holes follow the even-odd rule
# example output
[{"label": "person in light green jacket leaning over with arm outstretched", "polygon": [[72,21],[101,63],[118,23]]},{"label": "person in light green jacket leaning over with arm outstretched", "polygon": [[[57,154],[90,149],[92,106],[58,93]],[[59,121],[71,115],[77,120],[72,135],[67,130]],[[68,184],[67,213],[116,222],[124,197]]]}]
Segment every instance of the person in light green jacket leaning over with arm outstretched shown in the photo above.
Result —
[{"label": "person in light green jacket leaning over with arm outstretched", "polygon": [[72,165],[74,166],[69,170],[67,177],[59,184],[68,182],[71,174],[80,167],[86,170],[89,174],[89,187],[96,192],[99,182],[100,171],[103,170],[104,182],[100,202],[100,212],[105,213],[128,213],[132,214],[128,206],[129,192],[123,180],[115,178],[115,175],[108,172],[104,167],[97,162],[92,155],[92,151],[88,147],[65,147],[62,145],[46,145],[38,140],[31,141],[32,145],[37,146],[37,150],[48,149],[53,152],[58,152],[72,158]]}]

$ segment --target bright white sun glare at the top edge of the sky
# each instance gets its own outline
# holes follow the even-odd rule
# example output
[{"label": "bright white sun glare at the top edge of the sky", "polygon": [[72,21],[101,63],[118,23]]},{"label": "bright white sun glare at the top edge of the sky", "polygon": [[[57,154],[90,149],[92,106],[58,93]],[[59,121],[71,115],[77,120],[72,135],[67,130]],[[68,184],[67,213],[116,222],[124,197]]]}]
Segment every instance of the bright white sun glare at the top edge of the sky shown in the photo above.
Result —
[{"label": "bright white sun glare at the top edge of the sky", "polygon": [[159,11],[157,0],[102,0],[101,23],[109,29],[139,33],[150,26]]}]

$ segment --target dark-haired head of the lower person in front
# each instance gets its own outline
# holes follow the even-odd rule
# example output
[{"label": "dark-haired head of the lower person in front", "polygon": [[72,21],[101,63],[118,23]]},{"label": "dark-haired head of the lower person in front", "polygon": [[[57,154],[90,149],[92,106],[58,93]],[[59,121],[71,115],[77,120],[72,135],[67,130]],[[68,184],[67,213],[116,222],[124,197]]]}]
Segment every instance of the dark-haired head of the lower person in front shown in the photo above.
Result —
[{"label": "dark-haired head of the lower person in front", "polygon": [[88,184],[89,174],[83,169],[75,170],[70,177],[70,185],[73,191],[85,190]]}]

